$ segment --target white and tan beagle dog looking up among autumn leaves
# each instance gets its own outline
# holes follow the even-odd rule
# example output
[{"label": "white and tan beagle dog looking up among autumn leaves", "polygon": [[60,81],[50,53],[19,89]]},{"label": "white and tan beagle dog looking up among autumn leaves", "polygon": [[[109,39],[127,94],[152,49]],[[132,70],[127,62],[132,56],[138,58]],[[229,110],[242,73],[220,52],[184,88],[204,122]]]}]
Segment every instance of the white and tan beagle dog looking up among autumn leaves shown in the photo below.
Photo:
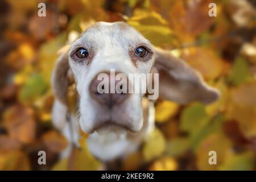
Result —
[{"label": "white and tan beagle dog looking up among autumn leaves", "polygon": [[[218,90],[208,86],[183,60],[152,46],[127,23],[93,24],[56,62],[52,74],[55,96],[52,120],[77,145],[79,130],[88,134],[86,144],[90,153],[103,162],[137,150],[147,133],[154,129],[154,101],[148,100],[147,94],[97,92],[97,76],[110,75],[110,69],[124,75],[159,74],[159,80],[150,80],[158,85],[159,97],[179,104],[192,101],[209,104],[220,96]],[[70,82],[74,82],[78,95],[76,111],[68,109]],[[71,113],[72,133],[65,117],[67,112]],[[68,146],[63,157],[70,152]]]}]

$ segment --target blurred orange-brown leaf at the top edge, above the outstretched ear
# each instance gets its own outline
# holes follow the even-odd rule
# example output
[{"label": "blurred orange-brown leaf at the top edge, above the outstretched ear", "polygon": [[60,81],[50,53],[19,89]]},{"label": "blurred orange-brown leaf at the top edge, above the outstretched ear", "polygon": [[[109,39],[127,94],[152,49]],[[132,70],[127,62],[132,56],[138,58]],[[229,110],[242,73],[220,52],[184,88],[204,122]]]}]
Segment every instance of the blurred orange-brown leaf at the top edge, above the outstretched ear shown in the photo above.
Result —
[{"label": "blurred orange-brown leaf at the top edge, above the outstretched ear", "polygon": [[208,15],[209,3],[212,1],[175,1],[166,12],[175,35],[184,42],[195,40],[196,36],[206,31],[214,19]]}]

